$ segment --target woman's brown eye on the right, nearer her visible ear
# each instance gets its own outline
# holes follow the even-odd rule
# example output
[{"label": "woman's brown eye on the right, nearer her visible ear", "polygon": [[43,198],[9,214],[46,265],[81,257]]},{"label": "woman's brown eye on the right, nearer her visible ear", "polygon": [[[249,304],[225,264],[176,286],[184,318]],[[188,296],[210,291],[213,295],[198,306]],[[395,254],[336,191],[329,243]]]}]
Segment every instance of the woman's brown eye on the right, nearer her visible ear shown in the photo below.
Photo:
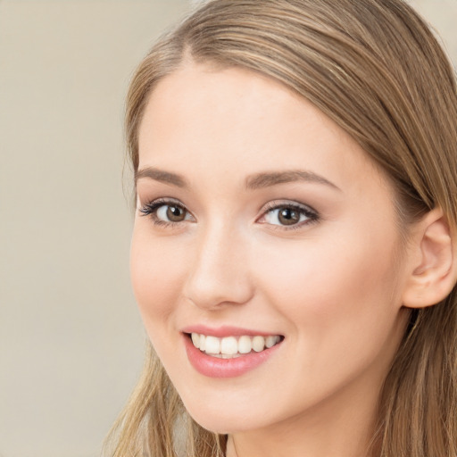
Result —
[{"label": "woman's brown eye on the right, nearer her visible ear", "polygon": [[300,228],[319,220],[318,213],[303,204],[269,204],[258,222],[284,228]]}]

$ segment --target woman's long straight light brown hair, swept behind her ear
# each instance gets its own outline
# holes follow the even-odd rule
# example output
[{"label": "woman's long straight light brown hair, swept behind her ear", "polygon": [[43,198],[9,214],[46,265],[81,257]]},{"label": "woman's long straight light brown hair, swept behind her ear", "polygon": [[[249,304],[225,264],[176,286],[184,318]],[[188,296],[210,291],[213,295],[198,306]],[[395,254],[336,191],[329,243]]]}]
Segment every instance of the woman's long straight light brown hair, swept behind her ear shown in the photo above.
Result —
[{"label": "woman's long straight light brown hair, swept behind her ear", "polygon": [[[441,207],[455,233],[455,75],[428,26],[402,0],[204,4],[157,42],[131,82],[126,131],[134,170],[148,96],[187,58],[256,71],[303,96],[385,170],[402,227]],[[454,287],[442,303],[411,312],[379,400],[371,455],[457,457],[456,348]],[[148,345],[144,374],[111,442],[114,457],[214,457],[224,455],[226,437],[188,417]]]}]

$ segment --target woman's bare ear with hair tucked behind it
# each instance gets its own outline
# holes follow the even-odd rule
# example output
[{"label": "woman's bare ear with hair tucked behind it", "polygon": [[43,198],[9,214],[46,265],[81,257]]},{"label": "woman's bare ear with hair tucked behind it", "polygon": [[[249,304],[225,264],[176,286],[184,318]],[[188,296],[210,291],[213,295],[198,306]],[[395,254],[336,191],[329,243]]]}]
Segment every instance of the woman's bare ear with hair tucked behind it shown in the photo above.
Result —
[{"label": "woman's bare ear with hair tucked behind it", "polygon": [[453,235],[439,208],[413,228],[411,273],[403,290],[403,306],[424,308],[451,293],[457,278]]}]

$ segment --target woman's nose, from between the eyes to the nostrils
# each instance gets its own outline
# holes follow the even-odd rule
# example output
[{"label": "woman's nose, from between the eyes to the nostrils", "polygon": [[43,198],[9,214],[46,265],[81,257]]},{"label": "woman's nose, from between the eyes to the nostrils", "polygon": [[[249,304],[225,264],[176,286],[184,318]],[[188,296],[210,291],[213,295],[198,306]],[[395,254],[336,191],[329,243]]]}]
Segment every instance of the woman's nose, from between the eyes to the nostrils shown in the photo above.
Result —
[{"label": "woman's nose, from between the eyes to the nostrils", "polygon": [[184,295],[205,310],[248,302],[253,296],[248,240],[220,223],[195,241]]}]

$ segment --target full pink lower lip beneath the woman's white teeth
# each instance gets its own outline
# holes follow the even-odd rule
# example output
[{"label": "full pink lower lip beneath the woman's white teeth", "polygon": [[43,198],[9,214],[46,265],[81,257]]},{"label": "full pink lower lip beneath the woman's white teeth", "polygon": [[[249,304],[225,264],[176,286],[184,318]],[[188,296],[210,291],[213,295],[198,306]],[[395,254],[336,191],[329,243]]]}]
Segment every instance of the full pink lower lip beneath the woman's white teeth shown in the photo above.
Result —
[{"label": "full pink lower lip beneath the woman's white teeth", "polygon": [[[225,329],[224,329],[225,331]],[[187,332],[186,332],[187,333]],[[189,332],[191,333],[191,332]],[[195,331],[195,333],[200,333]],[[204,335],[214,335],[213,333],[204,333]],[[233,332],[224,334],[236,336]],[[247,335],[246,333],[240,333],[238,335]],[[253,335],[259,335],[259,333],[253,333]],[[187,335],[183,334],[184,345],[186,347],[187,357],[191,365],[204,376],[209,378],[234,378],[245,374],[247,371],[253,370],[254,368],[261,365],[264,361],[270,359],[270,357],[278,350],[278,345],[274,345],[269,349],[263,350],[261,353],[246,353],[240,357],[234,359],[220,359],[218,357],[212,357],[197,349],[195,345]]]}]

